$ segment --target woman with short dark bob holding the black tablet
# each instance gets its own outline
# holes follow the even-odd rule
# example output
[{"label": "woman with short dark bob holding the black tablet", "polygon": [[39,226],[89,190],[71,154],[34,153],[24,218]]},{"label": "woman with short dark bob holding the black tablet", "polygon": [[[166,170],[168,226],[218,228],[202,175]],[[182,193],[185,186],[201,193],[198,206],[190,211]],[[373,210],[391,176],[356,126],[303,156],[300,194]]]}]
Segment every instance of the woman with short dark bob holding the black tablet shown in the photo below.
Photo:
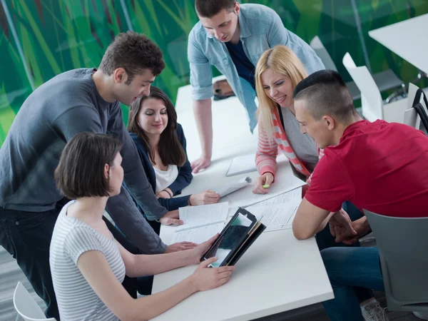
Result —
[{"label": "woman with short dark bob holding the black tablet", "polygon": [[[121,285],[125,275],[156,275],[198,264],[218,235],[191,250],[133,255],[116,241],[103,213],[109,197],[121,192],[122,143],[111,136],[79,133],[64,148],[55,179],[68,199],[56,220],[50,267],[59,314],[67,320],[151,320],[194,292],[227,282],[233,267],[208,268],[155,295],[133,299]],[[91,156],[91,157],[88,157]]]}]

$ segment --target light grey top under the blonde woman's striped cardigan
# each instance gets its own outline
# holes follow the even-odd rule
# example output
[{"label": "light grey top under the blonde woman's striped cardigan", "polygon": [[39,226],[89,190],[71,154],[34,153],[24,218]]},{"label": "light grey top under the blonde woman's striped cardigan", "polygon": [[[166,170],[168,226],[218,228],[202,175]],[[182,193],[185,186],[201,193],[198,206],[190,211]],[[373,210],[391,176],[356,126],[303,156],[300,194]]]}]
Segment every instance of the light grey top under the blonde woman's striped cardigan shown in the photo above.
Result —
[{"label": "light grey top under the blonde woman's striped cardigan", "polygon": [[309,135],[300,133],[300,124],[290,109],[281,107],[281,111],[288,142],[297,158],[312,172],[318,163],[317,144]]}]

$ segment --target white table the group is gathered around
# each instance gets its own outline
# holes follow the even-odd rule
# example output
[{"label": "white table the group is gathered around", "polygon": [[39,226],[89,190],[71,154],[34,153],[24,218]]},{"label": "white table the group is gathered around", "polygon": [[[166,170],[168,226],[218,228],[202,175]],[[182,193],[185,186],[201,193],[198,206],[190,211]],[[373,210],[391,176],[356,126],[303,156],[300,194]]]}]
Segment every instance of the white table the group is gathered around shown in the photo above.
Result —
[{"label": "white table the group is gathered around", "polygon": [[[187,88],[186,88],[187,87]],[[199,141],[190,101],[190,88],[180,88],[178,121],[183,125],[190,159],[199,156]],[[216,188],[245,176],[225,176],[234,156],[255,152],[257,139],[245,121],[245,110],[237,98],[213,103],[213,164],[194,175],[183,195]],[[223,129],[223,131],[222,131]],[[285,156],[278,158],[277,183],[292,175]],[[170,243],[173,227],[162,226],[161,238]],[[196,265],[156,275],[153,293],[160,292],[188,277]],[[332,287],[322,263],[315,238],[298,241],[292,230],[267,232],[243,255],[230,281],[215,290],[198,292],[153,320],[252,320],[297,307],[332,299]]]}]

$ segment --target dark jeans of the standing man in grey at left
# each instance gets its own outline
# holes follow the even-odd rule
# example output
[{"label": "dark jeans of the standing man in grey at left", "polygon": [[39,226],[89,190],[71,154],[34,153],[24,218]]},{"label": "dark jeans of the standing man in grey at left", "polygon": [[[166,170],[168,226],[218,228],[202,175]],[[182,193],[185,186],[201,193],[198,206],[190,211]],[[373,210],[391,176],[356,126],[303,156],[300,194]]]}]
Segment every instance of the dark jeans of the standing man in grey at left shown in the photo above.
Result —
[{"label": "dark jeans of the standing man in grey at left", "polygon": [[[46,317],[60,320],[54,285],[49,266],[49,247],[58,213],[67,200],[56,203],[56,208],[34,213],[0,208],[0,245],[15,259],[22,272],[34,287],[34,291],[46,303]],[[134,247],[114,226],[104,219],[113,237],[127,250],[135,253]],[[123,287],[136,297],[136,279],[125,277]]]}]

